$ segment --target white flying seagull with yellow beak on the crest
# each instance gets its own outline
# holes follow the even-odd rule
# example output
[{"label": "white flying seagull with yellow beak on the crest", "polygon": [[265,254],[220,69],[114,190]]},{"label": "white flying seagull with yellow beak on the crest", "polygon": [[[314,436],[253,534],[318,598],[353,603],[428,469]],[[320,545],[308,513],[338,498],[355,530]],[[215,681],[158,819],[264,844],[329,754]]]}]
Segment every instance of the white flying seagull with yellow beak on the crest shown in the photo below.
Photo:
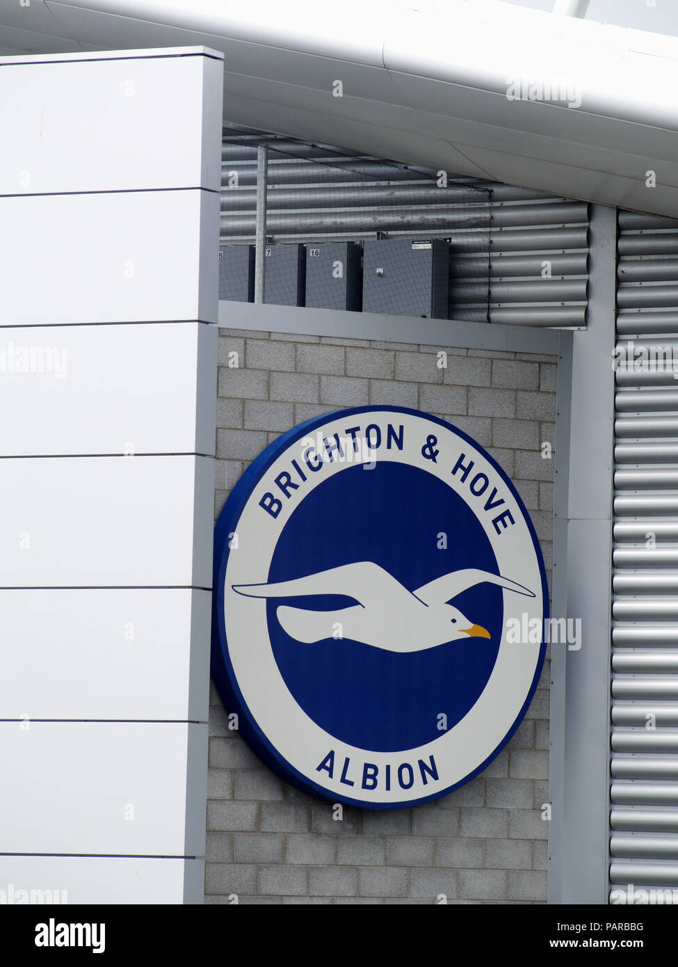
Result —
[{"label": "white flying seagull with yellow beak on the crest", "polygon": [[412,592],[371,561],[345,564],[291,581],[232,587],[248,598],[341,595],[358,601],[333,611],[280,605],[276,612],[280,625],[297,641],[311,644],[341,637],[389,652],[419,652],[448,641],[490,636],[485,628],[469,621],[447,603],[485,581],[519,595],[535,597],[508,577],[473,568],[443,574]]}]

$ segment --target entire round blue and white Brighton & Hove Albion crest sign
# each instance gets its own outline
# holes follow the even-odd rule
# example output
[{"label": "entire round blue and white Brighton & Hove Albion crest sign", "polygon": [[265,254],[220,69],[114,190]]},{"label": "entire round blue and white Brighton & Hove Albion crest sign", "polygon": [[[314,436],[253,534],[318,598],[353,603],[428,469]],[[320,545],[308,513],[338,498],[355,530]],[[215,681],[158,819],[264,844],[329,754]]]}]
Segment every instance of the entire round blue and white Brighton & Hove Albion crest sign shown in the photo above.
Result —
[{"label": "entire round blue and white Brighton & Hove Albion crest sign", "polygon": [[331,802],[450,792],[539,681],[532,522],[483,448],[415,410],[340,410],[267,447],[221,512],[214,588],[227,709],[280,776]]}]

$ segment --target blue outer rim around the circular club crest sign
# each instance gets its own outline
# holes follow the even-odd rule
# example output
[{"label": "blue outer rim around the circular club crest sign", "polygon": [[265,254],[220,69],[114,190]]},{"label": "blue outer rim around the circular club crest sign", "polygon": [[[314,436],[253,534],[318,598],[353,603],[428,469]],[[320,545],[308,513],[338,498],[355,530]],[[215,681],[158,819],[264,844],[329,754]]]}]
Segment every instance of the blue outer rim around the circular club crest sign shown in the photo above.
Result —
[{"label": "blue outer rim around the circular club crest sign", "polygon": [[464,777],[459,782],[456,782],[454,785],[448,786],[446,789],[438,790],[430,796],[425,796],[423,799],[407,800],[407,802],[403,803],[369,803],[359,799],[352,799],[339,793],[331,794],[327,789],[316,785],[316,783],[313,782],[310,777],[298,772],[289,764],[289,762],[287,762],[285,758],[283,758],[278,749],[261,730],[255,718],[251,715],[247,702],[245,701],[240,690],[240,686],[238,685],[238,680],[228,654],[225,628],[223,588],[225,570],[228,563],[228,554],[230,550],[228,547],[228,536],[229,534],[237,531],[237,523],[240,520],[245,505],[251,497],[254,487],[259,483],[261,477],[268,470],[268,468],[279,457],[280,453],[283,450],[286,450],[290,443],[292,443],[298,437],[308,435],[310,430],[317,426],[325,425],[331,420],[336,420],[341,417],[350,417],[359,413],[375,412],[407,413],[411,416],[423,417],[432,423],[437,423],[438,425],[444,426],[446,429],[454,430],[458,436],[474,447],[479,454],[483,454],[487,462],[491,464],[504,483],[508,485],[512,494],[516,498],[516,503],[529,528],[530,536],[532,537],[532,542],[537,554],[537,560],[539,562],[540,573],[542,575],[542,598],[544,601],[543,620],[548,620],[550,615],[548,584],[546,581],[546,571],[544,567],[542,548],[540,547],[540,543],[534,529],[534,524],[532,523],[529,513],[527,513],[525,509],[525,505],[520,499],[520,495],[518,494],[516,487],[504,470],[499,466],[497,461],[486,452],[484,447],[481,447],[478,443],[476,443],[476,441],[467,433],[464,433],[463,430],[458,429],[457,426],[450,424],[445,420],[441,420],[439,417],[431,416],[429,413],[425,413],[423,410],[413,410],[405,406],[355,406],[344,410],[335,410],[331,413],[324,413],[321,416],[313,417],[303,424],[298,424],[293,426],[291,429],[288,429],[277,440],[269,444],[269,446],[266,447],[266,449],[251,462],[250,466],[240,478],[238,483],[233,487],[233,490],[231,491],[221,510],[219,519],[215,525],[214,533],[211,665],[212,674],[215,682],[217,683],[217,688],[219,689],[226,709],[229,712],[235,712],[238,715],[238,727],[241,735],[256,752],[256,754],[280,777],[288,782],[291,782],[292,785],[296,786],[298,789],[301,789],[303,792],[310,793],[311,795],[316,796],[318,799],[329,803],[339,802],[348,806],[358,806],[363,809],[406,809],[410,806],[421,806],[424,803],[430,803],[433,800],[440,799],[441,796],[446,796],[448,793],[458,789],[459,786],[465,785],[472,778],[480,775],[480,773],[486,769],[489,763],[496,758],[499,752],[501,752],[502,748],[507,745],[516,732],[518,725],[524,718],[525,713],[532,702],[537,685],[539,684],[546,653],[546,644],[544,638],[542,639],[542,646],[540,649],[539,660],[535,669],[532,686],[522,705],[522,708],[516,717],[516,721],[511,726],[502,742],[490,755],[487,756],[486,760],[482,762],[477,769],[475,769],[472,773],[469,773],[468,776]]}]

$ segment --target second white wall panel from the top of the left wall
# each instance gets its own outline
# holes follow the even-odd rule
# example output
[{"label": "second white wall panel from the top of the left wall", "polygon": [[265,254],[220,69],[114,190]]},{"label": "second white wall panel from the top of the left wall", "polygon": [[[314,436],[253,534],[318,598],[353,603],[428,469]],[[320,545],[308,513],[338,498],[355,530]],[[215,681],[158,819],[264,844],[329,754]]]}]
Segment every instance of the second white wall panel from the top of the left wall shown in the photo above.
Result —
[{"label": "second white wall panel from the top of the left wall", "polygon": [[200,259],[214,207],[201,190],[0,198],[2,325],[216,322],[217,243],[213,270]]}]

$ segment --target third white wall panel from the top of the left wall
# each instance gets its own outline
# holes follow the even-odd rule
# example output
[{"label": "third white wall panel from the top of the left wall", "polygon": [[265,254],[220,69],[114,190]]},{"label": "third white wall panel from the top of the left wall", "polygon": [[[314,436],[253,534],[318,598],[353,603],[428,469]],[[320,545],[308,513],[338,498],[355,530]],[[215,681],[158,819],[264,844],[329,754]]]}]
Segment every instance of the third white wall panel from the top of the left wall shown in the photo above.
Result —
[{"label": "third white wall panel from the top of the left wall", "polygon": [[204,323],[0,329],[0,455],[214,454],[217,337]]}]

